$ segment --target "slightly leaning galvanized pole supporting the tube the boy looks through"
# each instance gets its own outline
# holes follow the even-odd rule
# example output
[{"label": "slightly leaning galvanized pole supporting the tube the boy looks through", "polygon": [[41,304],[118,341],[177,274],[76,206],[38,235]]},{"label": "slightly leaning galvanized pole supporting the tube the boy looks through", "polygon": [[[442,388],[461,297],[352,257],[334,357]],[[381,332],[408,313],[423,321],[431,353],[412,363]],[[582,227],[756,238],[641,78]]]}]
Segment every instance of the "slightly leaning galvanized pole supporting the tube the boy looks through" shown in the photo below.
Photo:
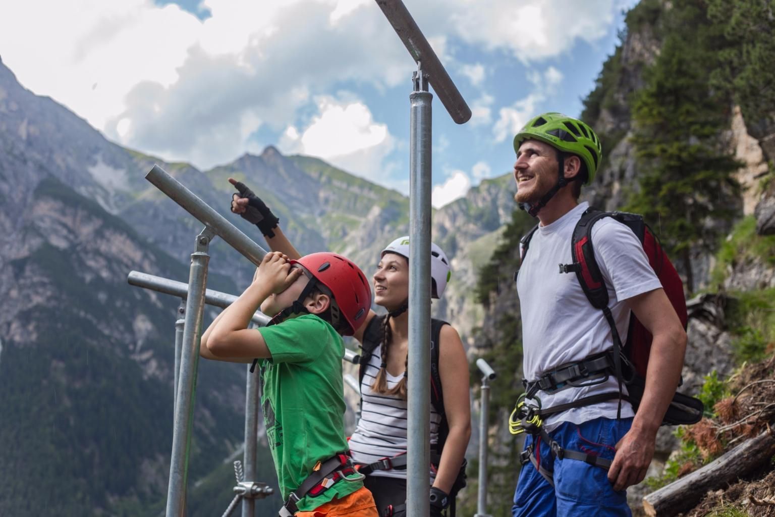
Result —
[{"label": "slightly leaning galvanized pole supporting the tube the boy looks through", "polygon": [[185,511],[188,453],[191,447],[191,426],[194,421],[194,395],[199,364],[199,332],[202,328],[202,315],[205,312],[205,285],[210,260],[208,250],[213,236],[215,232],[205,227],[197,236],[195,251],[191,253],[181,371],[172,433],[170,483],[167,487],[167,517],[184,517]]}]

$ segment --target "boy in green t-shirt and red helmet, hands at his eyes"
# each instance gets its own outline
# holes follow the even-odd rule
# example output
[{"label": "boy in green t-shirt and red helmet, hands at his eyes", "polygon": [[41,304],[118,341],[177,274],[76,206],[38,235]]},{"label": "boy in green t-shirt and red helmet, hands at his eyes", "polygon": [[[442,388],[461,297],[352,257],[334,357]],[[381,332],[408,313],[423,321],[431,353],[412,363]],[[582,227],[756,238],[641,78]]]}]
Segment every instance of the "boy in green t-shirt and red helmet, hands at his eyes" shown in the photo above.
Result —
[{"label": "boy in green t-shirt and red helmet, hands at his eyes", "polygon": [[[370,304],[366,277],[345,257],[267,253],[250,287],[202,336],[202,357],[260,360],[267,439],[286,499],[281,517],[377,517],[347,456],[340,336],[363,324]],[[273,319],[248,329],[259,307]]]}]

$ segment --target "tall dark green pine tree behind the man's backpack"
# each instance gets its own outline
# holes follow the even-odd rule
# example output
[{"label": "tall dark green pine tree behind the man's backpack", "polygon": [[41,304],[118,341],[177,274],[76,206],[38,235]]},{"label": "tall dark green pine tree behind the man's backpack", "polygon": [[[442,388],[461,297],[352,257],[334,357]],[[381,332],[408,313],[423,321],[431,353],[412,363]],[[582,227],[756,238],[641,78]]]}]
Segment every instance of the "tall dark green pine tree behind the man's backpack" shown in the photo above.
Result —
[{"label": "tall dark green pine tree behind the man's backpack", "polygon": [[645,215],[694,290],[693,251],[715,249],[735,215],[740,164],[725,149],[731,101],[708,86],[726,41],[702,4],[671,9],[665,40],[646,85],[632,101],[639,188],[632,212]]}]

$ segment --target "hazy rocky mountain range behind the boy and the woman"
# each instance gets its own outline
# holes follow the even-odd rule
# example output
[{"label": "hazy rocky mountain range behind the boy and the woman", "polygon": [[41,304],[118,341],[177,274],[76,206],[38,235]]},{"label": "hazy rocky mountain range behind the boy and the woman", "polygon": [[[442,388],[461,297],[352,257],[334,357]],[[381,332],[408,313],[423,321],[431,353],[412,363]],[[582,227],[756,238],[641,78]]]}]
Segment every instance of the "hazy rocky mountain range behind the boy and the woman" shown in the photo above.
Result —
[{"label": "hazy rocky mountain range behind the boy and the woman", "polygon": [[[163,512],[171,450],[179,300],[129,286],[129,271],[187,281],[202,224],[144,180],[153,164],[266,246],[229,213],[229,176],[249,184],[302,253],[334,250],[370,274],[408,233],[408,198],[314,157],[269,146],[199,171],[111,143],[0,61],[0,515]],[[433,238],[453,266],[434,314],[470,336],[476,270],[511,216],[508,174],[435,210]],[[221,240],[208,287],[238,294],[253,266]],[[205,312],[205,324],[217,314]],[[244,367],[202,361],[189,515],[229,504],[243,441]],[[261,431],[263,433],[263,430]],[[259,481],[274,482],[260,447]],[[277,497],[258,501],[277,507]]]}]

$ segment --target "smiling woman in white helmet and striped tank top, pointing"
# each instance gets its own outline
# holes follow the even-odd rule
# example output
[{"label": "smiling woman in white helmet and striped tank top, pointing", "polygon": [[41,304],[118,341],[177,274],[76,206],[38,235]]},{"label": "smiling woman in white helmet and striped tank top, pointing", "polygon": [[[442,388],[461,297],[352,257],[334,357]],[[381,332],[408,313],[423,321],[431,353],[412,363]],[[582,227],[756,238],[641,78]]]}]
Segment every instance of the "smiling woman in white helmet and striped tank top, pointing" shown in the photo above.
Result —
[{"label": "smiling woman in white helmet and striped tank top, pointing", "polygon": [[[253,191],[229,178],[239,195],[232,196],[232,212],[259,227],[273,251],[291,259],[299,253],[277,226],[278,219]],[[387,309],[387,315],[370,311],[366,322],[353,337],[374,349],[361,381],[363,405],[356,430],[350,438],[353,460],[372,464],[384,457],[401,457],[406,453],[406,393],[408,353],[409,240],[394,240],[381,253],[374,272],[374,303]],[[449,279],[449,260],[432,244],[432,298],[441,298]],[[377,332],[375,332],[377,331]],[[376,339],[379,343],[369,343]],[[440,515],[449,504],[446,495],[452,491],[463,464],[470,438],[470,402],[468,361],[457,331],[450,325],[439,334],[439,377],[443,407],[449,433],[441,457],[431,467],[429,490],[431,515]],[[431,443],[439,438],[442,415],[431,411]],[[398,463],[398,462],[397,462]],[[377,508],[400,507],[406,500],[406,470],[393,468],[373,470],[364,484],[374,495]],[[398,515],[398,512],[396,512]]]}]

